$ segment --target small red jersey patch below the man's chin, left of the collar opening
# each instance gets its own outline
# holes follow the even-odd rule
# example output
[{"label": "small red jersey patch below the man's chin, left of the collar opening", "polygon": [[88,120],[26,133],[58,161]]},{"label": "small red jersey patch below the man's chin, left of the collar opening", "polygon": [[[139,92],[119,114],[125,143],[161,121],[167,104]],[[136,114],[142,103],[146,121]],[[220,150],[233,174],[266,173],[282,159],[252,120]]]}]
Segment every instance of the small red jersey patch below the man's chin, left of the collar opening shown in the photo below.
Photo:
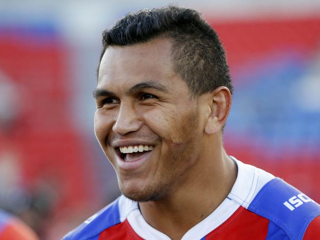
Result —
[{"label": "small red jersey patch below the man's chin, left of the collar opening", "polygon": [[99,235],[99,240],[143,240],[130,226],[128,220],[104,230]]}]

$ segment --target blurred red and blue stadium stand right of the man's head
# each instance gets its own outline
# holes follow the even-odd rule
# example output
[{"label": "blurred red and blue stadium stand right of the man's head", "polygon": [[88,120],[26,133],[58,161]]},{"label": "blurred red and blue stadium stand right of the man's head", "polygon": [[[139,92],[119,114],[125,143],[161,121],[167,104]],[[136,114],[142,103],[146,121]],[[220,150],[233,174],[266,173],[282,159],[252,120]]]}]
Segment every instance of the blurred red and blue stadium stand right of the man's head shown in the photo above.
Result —
[{"label": "blurred red and blue stadium stand right of the man's head", "polygon": [[235,87],[227,151],[319,202],[320,17],[213,25]]}]

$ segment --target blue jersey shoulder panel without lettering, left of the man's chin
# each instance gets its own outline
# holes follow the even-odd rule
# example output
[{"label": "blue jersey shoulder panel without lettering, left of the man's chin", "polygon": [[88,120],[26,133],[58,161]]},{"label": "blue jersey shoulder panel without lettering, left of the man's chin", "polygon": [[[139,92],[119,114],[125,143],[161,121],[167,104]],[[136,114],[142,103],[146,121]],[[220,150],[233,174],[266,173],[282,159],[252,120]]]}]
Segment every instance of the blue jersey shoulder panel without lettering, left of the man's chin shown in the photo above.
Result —
[{"label": "blue jersey shoulder panel without lettering, left of the man's chin", "polygon": [[64,240],[97,240],[105,229],[120,223],[119,198],[88,218],[75,230],[68,233]]}]

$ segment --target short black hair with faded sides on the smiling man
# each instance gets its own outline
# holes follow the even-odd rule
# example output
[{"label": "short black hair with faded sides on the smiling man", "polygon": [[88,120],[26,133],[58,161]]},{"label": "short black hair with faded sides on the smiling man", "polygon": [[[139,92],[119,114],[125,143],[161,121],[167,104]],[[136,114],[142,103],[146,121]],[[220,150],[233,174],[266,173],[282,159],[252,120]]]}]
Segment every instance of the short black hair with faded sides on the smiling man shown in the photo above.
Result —
[{"label": "short black hair with faded sides on the smiling man", "polygon": [[102,33],[103,49],[128,46],[157,37],[173,40],[173,67],[193,96],[227,87],[232,93],[229,67],[217,32],[201,14],[189,8],[167,6],[128,13]]}]

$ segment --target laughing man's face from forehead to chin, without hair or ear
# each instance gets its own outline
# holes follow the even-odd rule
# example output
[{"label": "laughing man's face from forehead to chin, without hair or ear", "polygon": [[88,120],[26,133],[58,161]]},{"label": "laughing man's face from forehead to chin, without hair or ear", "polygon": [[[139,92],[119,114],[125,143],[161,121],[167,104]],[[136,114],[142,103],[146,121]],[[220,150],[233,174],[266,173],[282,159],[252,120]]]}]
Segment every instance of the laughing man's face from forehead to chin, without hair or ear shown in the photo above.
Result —
[{"label": "laughing man's face from forehead to chin, without hair or ear", "polygon": [[174,73],[171,42],[109,46],[95,91],[96,137],[122,193],[158,200],[190,177],[203,126],[198,102]]}]

